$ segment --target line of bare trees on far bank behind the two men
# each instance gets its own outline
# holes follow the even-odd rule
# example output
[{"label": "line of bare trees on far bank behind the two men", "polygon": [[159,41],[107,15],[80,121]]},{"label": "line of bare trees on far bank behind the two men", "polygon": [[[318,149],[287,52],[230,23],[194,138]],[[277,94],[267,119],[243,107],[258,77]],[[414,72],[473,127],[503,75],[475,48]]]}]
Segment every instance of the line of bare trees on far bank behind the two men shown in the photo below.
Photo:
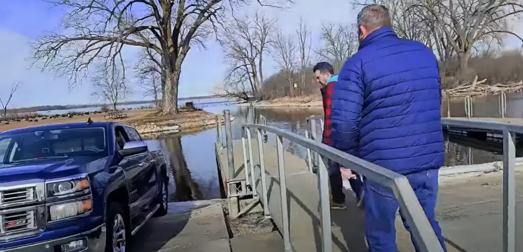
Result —
[{"label": "line of bare trees on far bank behind the two men", "polygon": [[[523,42],[511,30],[523,12],[519,1],[352,1],[355,10],[371,3],[389,8],[399,37],[420,41],[434,51],[442,88],[467,85],[476,76],[486,85],[523,80],[521,51],[502,50],[509,37]],[[251,93],[257,100],[319,94],[312,66],[327,61],[339,71],[358,50],[357,27],[351,21],[356,17],[346,24],[323,24],[321,33],[314,35],[303,19],[293,32],[281,31],[277,20],[261,12],[235,19],[221,36],[229,70],[224,82],[215,87],[216,93],[245,100],[252,98]],[[313,38],[319,41],[313,43]],[[263,75],[267,59],[276,61],[277,74]],[[514,85],[511,90],[516,90]]]}]

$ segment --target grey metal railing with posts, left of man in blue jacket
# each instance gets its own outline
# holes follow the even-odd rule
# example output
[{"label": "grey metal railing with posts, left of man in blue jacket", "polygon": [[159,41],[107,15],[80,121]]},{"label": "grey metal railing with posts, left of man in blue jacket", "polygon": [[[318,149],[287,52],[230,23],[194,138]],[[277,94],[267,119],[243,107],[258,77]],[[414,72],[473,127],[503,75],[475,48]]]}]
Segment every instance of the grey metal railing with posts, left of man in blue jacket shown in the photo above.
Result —
[{"label": "grey metal railing with posts, left of man in blue jacket", "polygon": [[[261,141],[261,131],[270,132],[276,134],[277,136],[277,151],[278,151],[278,173],[280,178],[281,188],[286,188],[285,186],[285,164],[283,163],[283,139],[287,139],[294,143],[309,148],[311,151],[319,153],[321,156],[331,159],[332,161],[340,164],[344,167],[351,167],[351,169],[357,171],[372,181],[378,182],[386,187],[392,189],[394,196],[400,203],[400,209],[404,213],[404,217],[408,225],[412,228],[412,234],[414,240],[419,245],[421,251],[430,251],[430,252],[442,252],[443,249],[434,233],[433,228],[431,227],[427,216],[423,212],[419,201],[412,190],[411,185],[409,184],[407,178],[401,174],[395,173],[389,169],[383,168],[376,164],[372,164],[363,159],[351,156],[345,152],[336,150],[333,147],[327,146],[320,142],[304,138],[298,134],[280,130],[275,127],[270,127],[267,125],[261,124],[243,124],[242,129],[247,132],[247,138],[250,138],[250,130],[253,129],[257,131],[258,135],[258,148],[260,154],[260,168],[261,174],[265,174],[264,168],[264,159],[263,148],[259,143]],[[245,146],[245,145],[244,145]],[[252,151],[252,145],[249,146],[249,151]],[[330,215],[330,197],[328,192],[328,171],[323,162],[319,162],[319,183],[320,183],[320,202],[321,202],[321,228],[322,228],[322,251],[328,252],[332,251],[332,233],[331,233],[331,215]],[[264,176],[261,176],[262,178]],[[265,182],[262,181],[263,184]],[[262,184],[262,190],[263,185]],[[255,190],[255,189],[254,189]],[[261,192],[263,194],[262,199],[266,201],[267,191]],[[287,190],[280,190],[280,199],[281,202],[281,211],[282,213],[287,213]],[[258,192],[258,194],[260,194]],[[263,202],[264,212],[267,208],[267,202]],[[291,242],[290,242],[290,230],[289,230],[289,217],[287,214],[283,214],[283,240],[285,244],[285,251],[291,251]]]}]

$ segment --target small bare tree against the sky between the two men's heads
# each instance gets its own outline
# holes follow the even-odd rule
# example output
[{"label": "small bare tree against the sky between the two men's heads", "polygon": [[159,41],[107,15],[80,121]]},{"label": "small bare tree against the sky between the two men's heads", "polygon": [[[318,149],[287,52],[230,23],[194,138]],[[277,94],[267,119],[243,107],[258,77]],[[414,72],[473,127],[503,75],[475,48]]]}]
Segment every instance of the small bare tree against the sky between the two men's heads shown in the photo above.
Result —
[{"label": "small bare tree against the sky between the two men's heads", "polygon": [[316,51],[321,60],[328,60],[339,71],[343,63],[358,51],[358,35],[355,26],[332,24],[322,26],[323,46]]}]

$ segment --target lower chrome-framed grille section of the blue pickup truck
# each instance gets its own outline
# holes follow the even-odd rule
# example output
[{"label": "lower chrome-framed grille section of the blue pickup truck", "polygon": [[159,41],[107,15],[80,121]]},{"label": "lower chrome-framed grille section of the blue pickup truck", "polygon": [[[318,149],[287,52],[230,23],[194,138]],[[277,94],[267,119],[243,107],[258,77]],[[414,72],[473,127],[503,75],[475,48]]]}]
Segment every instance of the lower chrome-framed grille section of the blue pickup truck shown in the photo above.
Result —
[{"label": "lower chrome-framed grille section of the blue pickup truck", "polygon": [[8,235],[37,228],[36,210],[16,211],[0,215],[0,234]]}]

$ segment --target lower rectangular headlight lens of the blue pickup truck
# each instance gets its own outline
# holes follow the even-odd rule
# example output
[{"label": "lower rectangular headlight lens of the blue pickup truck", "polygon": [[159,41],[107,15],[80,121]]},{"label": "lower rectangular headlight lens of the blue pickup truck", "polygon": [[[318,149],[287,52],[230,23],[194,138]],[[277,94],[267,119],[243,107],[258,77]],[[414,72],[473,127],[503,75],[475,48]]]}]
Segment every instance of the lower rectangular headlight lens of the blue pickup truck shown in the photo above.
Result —
[{"label": "lower rectangular headlight lens of the blue pickup truck", "polygon": [[67,203],[58,203],[49,206],[49,220],[58,221],[89,213],[93,210],[93,199],[79,199]]}]

